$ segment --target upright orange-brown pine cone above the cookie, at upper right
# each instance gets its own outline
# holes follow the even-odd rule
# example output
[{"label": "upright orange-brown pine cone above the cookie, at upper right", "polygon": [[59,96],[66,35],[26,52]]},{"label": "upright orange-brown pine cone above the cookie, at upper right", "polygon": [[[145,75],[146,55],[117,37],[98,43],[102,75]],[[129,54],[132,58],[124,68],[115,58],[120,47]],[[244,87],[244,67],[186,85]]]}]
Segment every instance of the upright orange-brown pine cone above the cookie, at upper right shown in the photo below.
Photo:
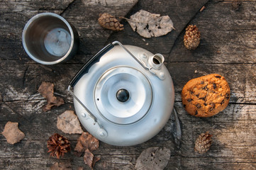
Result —
[{"label": "upright orange-brown pine cone above the cookie, at upper right", "polygon": [[186,28],[186,33],[184,35],[184,45],[189,50],[195,50],[200,43],[200,32],[199,29],[193,25],[189,25]]}]

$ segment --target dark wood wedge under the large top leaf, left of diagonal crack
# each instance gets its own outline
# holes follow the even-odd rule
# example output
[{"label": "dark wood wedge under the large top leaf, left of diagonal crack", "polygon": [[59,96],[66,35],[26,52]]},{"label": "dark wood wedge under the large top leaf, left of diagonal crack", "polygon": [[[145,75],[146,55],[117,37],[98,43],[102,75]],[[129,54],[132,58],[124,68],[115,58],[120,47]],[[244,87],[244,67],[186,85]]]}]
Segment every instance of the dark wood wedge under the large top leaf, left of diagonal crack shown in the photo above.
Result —
[{"label": "dark wood wedge under the large top leaf, left of diagonal crack", "polygon": [[145,11],[150,13],[160,13],[161,16],[168,15],[176,30],[172,30],[171,33],[158,38],[143,38],[138,33],[133,32],[128,22],[124,22],[125,31],[113,33],[108,42],[113,40],[119,40],[123,44],[131,44],[150,50],[153,53],[168,54],[172,45],[179,34],[184,30],[187,23],[194,18],[196,13],[200,10],[207,1],[138,1],[138,4],[133,10],[128,13],[126,17],[140,10],[141,6]]}]

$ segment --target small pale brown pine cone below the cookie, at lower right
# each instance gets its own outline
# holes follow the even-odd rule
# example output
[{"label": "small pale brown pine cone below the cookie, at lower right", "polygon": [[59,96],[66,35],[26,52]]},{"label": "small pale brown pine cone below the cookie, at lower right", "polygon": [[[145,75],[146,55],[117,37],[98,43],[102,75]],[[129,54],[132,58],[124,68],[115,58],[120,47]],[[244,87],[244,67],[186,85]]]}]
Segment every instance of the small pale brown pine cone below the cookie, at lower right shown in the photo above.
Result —
[{"label": "small pale brown pine cone below the cookie, at lower right", "polygon": [[199,152],[199,154],[207,152],[211,147],[211,136],[209,132],[201,133],[196,140],[195,151]]}]

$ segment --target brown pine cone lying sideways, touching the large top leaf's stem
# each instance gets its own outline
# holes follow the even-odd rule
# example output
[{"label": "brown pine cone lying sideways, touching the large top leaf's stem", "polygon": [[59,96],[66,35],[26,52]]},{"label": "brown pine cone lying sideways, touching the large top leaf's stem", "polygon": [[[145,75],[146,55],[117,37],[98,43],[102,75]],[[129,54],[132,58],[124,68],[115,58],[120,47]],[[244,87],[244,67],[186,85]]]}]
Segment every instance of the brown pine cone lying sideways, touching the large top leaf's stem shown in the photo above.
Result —
[{"label": "brown pine cone lying sideways, touching the large top leaf's stem", "polygon": [[99,25],[109,30],[123,30],[123,24],[119,23],[118,20],[109,13],[99,14],[98,21]]}]

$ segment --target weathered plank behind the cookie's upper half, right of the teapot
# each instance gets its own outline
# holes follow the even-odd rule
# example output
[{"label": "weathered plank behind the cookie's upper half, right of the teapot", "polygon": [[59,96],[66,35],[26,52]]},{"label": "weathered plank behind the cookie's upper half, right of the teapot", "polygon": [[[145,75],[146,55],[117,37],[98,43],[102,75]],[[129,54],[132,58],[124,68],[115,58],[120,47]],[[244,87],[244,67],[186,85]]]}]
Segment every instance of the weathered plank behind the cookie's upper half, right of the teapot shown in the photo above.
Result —
[{"label": "weathered plank behind the cookie's upper half, right of the teapot", "polygon": [[187,81],[206,74],[217,73],[228,81],[231,91],[231,103],[255,103],[255,64],[170,62],[168,68],[174,81],[175,99],[177,101],[181,101],[180,94]]}]

